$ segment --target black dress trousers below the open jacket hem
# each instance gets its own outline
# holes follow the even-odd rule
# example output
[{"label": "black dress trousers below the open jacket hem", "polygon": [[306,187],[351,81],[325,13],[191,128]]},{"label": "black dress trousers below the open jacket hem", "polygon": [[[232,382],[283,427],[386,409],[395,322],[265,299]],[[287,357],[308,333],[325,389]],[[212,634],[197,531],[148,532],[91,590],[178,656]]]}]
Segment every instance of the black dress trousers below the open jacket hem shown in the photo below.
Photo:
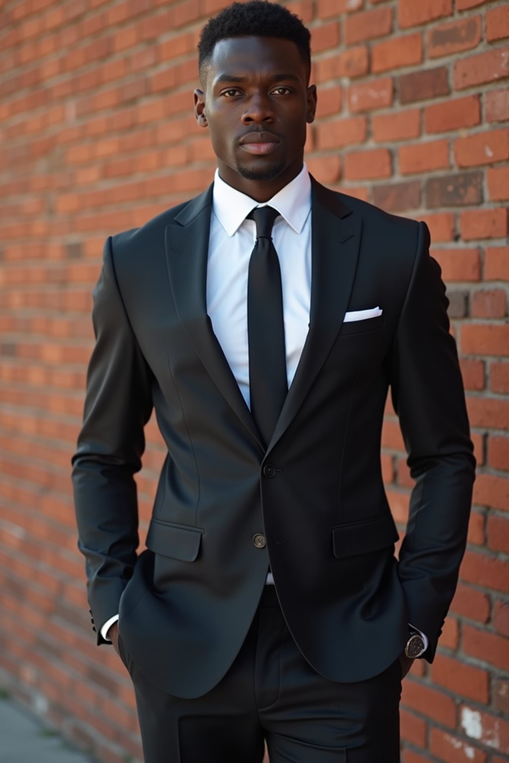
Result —
[{"label": "black dress trousers below the open jacket hem", "polygon": [[[121,632],[121,623],[119,623]],[[266,585],[224,678],[192,700],[154,686],[119,637],[130,673],[145,763],[398,763],[399,659],[352,684],[324,678],[299,652]]]}]

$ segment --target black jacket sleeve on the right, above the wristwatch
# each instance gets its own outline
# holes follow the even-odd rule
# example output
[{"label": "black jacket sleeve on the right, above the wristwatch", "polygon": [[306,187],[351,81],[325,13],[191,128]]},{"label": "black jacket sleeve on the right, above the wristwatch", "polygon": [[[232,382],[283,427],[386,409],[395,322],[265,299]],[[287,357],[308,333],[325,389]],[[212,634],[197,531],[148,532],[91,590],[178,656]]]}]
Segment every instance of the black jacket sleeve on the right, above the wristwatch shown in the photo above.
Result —
[{"label": "black jacket sleeve on the right, above the wristwatch", "polygon": [[408,620],[427,634],[433,661],[466,549],[475,478],[456,342],[446,288],[419,224],[417,254],[391,359],[391,394],[416,481],[398,576]]}]

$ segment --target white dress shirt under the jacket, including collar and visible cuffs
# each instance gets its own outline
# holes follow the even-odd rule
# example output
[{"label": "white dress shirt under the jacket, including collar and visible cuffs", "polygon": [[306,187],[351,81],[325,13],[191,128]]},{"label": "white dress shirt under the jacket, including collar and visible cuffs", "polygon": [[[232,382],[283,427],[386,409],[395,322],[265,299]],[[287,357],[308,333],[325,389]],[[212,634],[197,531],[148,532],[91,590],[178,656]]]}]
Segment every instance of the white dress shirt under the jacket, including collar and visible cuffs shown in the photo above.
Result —
[{"label": "white dress shirt under the jacket, including collar and visible cuffs", "polygon": [[[266,205],[280,214],[272,228],[272,241],[281,268],[289,388],[308,334],[311,306],[311,179],[308,168],[304,164],[296,178],[262,204],[227,185],[216,170],[208,243],[207,312],[248,407],[247,275],[256,243],[256,224],[246,220],[246,216],[256,207]],[[271,572],[266,582],[273,584]],[[116,620],[118,615],[102,626],[103,638]],[[426,636],[424,639],[427,642]]]}]

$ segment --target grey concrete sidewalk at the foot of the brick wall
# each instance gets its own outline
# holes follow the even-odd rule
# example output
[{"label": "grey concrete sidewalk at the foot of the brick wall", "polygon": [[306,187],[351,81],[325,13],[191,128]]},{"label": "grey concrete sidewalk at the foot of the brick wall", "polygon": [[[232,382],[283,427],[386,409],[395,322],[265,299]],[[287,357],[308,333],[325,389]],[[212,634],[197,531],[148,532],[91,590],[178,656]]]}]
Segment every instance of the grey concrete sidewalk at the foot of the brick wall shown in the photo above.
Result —
[{"label": "grey concrete sidewalk at the foot of the brick wall", "polygon": [[31,761],[95,763],[13,700],[0,697],[0,763]]}]

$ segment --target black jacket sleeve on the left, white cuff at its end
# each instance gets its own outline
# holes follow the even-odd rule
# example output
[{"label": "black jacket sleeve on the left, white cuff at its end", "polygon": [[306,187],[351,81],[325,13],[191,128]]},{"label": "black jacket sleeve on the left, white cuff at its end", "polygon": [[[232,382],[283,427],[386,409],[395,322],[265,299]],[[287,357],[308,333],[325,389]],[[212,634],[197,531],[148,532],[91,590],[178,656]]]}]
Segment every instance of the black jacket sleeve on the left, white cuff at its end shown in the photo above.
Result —
[{"label": "black jacket sleeve on the left, white cuff at its end", "polygon": [[118,612],[137,559],[138,509],[134,473],[145,448],[150,418],[150,370],[130,326],[114,270],[111,237],[94,291],[95,348],[89,363],[85,414],[72,456],[78,548],[92,622],[100,627]]}]

